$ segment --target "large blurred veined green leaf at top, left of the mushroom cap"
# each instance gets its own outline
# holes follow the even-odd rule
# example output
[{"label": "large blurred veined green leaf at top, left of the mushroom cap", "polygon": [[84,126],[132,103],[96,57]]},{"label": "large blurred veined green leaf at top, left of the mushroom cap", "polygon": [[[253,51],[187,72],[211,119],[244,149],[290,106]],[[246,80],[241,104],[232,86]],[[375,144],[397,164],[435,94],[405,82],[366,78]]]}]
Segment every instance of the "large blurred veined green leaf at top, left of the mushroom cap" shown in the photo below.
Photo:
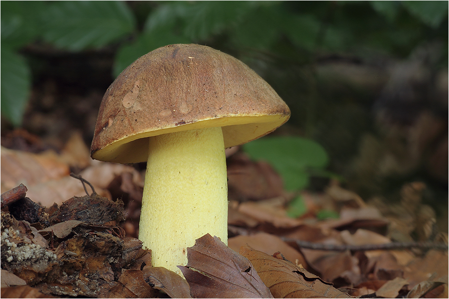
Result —
[{"label": "large blurred veined green leaf at top, left of the mushroom cap", "polygon": [[135,18],[122,1],[61,1],[42,15],[43,37],[71,51],[105,46],[135,30]]}]

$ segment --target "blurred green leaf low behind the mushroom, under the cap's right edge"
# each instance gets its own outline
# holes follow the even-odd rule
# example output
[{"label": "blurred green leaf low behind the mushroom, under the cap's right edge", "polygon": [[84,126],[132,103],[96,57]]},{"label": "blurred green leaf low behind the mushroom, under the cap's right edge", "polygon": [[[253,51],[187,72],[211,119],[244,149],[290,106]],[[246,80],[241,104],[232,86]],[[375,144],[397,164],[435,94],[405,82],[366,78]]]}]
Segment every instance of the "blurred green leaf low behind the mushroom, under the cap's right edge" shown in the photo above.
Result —
[{"label": "blurred green leaf low behind the mushroom, under the cap's right edge", "polygon": [[282,176],[287,190],[300,190],[309,182],[310,168],[324,168],[326,151],[316,142],[300,137],[268,137],[243,145],[256,160],[269,162]]}]

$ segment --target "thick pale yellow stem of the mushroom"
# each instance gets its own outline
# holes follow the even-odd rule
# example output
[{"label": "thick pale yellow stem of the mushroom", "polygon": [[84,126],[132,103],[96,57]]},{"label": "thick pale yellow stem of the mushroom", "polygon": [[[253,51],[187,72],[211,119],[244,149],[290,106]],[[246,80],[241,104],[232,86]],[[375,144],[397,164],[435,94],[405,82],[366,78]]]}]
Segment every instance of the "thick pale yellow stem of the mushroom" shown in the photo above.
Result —
[{"label": "thick pale yellow stem of the mushroom", "polygon": [[154,267],[182,276],[187,247],[206,233],[227,244],[227,174],[222,128],[150,137],[139,239]]}]

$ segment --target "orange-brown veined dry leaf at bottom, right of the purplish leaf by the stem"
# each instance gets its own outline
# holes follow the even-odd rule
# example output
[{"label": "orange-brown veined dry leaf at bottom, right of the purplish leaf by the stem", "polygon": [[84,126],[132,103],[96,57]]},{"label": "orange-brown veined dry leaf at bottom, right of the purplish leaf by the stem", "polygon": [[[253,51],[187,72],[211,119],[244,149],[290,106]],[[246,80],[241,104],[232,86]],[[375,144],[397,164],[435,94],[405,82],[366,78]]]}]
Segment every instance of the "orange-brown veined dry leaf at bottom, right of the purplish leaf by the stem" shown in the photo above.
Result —
[{"label": "orange-brown veined dry leaf at bottom, right of the purplish leaf by the stem", "polygon": [[251,261],[275,298],[351,298],[319,277],[292,263],[242,246],[240,254]]}]

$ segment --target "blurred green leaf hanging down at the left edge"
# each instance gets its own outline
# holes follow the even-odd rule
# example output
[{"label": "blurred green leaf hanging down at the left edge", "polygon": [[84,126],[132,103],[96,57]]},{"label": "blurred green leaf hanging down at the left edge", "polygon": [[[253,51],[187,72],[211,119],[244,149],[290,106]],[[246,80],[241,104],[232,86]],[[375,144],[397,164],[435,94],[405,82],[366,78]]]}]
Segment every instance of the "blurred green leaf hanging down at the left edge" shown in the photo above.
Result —
[{"label": "blurred green leaf hanging down at the left edge", "polygon": [[23,57],[1,47],[1,114],[14,126],[20,126],[28,103],[31,75]]}]

